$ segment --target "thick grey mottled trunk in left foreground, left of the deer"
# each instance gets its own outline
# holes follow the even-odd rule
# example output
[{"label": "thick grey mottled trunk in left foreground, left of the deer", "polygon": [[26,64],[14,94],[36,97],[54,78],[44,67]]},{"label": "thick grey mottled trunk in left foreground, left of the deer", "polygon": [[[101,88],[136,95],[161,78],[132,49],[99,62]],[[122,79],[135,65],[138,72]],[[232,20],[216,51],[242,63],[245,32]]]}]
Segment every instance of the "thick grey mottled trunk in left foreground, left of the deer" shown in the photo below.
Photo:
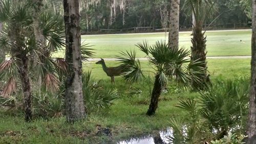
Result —
[{"label": "thick grey mottled trunk in left foreground, left of the deer", "polygon": [[73,123],[86,116],[81,82],[82,62],[79,2],[63,0],[63,8],[66,32],[66,61],[68,63],[66,114],[67,121]]}]

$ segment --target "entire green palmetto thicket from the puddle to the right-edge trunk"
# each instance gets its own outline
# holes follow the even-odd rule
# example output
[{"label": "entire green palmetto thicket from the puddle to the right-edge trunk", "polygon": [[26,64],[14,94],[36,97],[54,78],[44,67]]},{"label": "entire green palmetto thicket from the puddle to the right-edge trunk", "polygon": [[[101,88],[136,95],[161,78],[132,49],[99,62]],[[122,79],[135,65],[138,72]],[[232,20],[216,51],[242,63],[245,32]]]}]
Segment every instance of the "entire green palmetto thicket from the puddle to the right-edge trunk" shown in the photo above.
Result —
[{"label": "entire green palmetto thicket from the puddle to the right-edge trunk", "polygon": [[170,141],[200,143],[223,138],[229,132],[243,134],[248,114],[249,80],[217,81],[199,99],[181,100],[177,107],[188,116],[172,118]]}]

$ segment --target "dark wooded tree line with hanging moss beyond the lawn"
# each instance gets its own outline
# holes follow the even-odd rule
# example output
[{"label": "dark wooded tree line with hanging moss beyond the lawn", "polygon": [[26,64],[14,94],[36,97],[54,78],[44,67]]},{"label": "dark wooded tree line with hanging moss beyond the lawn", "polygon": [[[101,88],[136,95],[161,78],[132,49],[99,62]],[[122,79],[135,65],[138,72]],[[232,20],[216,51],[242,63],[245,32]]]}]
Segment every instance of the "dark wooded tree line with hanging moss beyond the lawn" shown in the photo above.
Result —
[{"label": "dark wooded tree line with hanging moss beyond the lawn", "polygon": [[[185,0],[180,1],[180,28],[191,26],[192,13],[182,9]],[[49,1],[49,5],[62,10],[60,0]],[[218,0],[214,16],[205,20],[209,24],[230,23],[229,27],[248,26],[251,21],[251,5],[246,0]],[[168,28],[170,1],[167,0],[84,0],[80,1],[81,29],[127,29],[132,27]],[[221,26],[216,26],[221,27]]]}]

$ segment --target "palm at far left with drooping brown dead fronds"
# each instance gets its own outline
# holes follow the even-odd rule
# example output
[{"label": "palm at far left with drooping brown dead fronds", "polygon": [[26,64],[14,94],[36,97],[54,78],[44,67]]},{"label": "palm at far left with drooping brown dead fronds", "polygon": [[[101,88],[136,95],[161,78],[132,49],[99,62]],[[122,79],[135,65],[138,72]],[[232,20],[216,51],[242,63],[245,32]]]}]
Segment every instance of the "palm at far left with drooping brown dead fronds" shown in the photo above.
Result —
[{"label": "palm at far left with drooping brown dead fronds", "polygon": [[[33,87],[31,83],[35,80],[33,77],[34,69],[45,71],[45,83],[48,86],[51,85],[51,87],[56,86],[55,72],[51,71],[56,67],[56,64],[53,63],[54,59],[46,58],[46,63],[50,64],[48,66],[46,63],[40,62],[39,56],[45,56],[42,55],[43,51],[34,37],[33,18],[28,11],[30,9],[31,5],[28,5],[26,1],[14,3],[6,0],[1,2],[0,7],[0,21],[4,23],[0,35],[0,45],[5,47],[7,54],[10,56],[9,60],[2,62],[0,65],[1,78],[6,81],[2,94],[8,97],[17,90],[17,83],[21,83],[24,93],[26,122],[32,119],[31,98]],[[57,14],[47,17],[48,19],[46,19],[46,15],[48,14],[39,16],[40,29],[44,31],[44,39],[47,43],[44,50],[53,50],[53,47],[56,49],[56,47],[63,45],[63,30],[61,30],[61,25],[54,27],[59,22]],[[31,65],[32,62],[37,63],[36,67]]]}]

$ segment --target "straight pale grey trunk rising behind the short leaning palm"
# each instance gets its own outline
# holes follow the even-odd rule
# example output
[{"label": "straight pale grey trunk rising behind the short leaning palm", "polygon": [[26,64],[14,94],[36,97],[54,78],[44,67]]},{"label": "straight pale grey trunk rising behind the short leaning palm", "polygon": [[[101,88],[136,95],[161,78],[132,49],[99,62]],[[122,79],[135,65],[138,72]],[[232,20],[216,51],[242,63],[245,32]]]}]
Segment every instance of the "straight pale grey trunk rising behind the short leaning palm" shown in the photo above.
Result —
[{"label": "straight pale grey trunk rising behind the short leaning palm", "polygon": [[179,49],[179,15],[180,0],[170,0],[170,24],[168,46],[170,49]]}]

